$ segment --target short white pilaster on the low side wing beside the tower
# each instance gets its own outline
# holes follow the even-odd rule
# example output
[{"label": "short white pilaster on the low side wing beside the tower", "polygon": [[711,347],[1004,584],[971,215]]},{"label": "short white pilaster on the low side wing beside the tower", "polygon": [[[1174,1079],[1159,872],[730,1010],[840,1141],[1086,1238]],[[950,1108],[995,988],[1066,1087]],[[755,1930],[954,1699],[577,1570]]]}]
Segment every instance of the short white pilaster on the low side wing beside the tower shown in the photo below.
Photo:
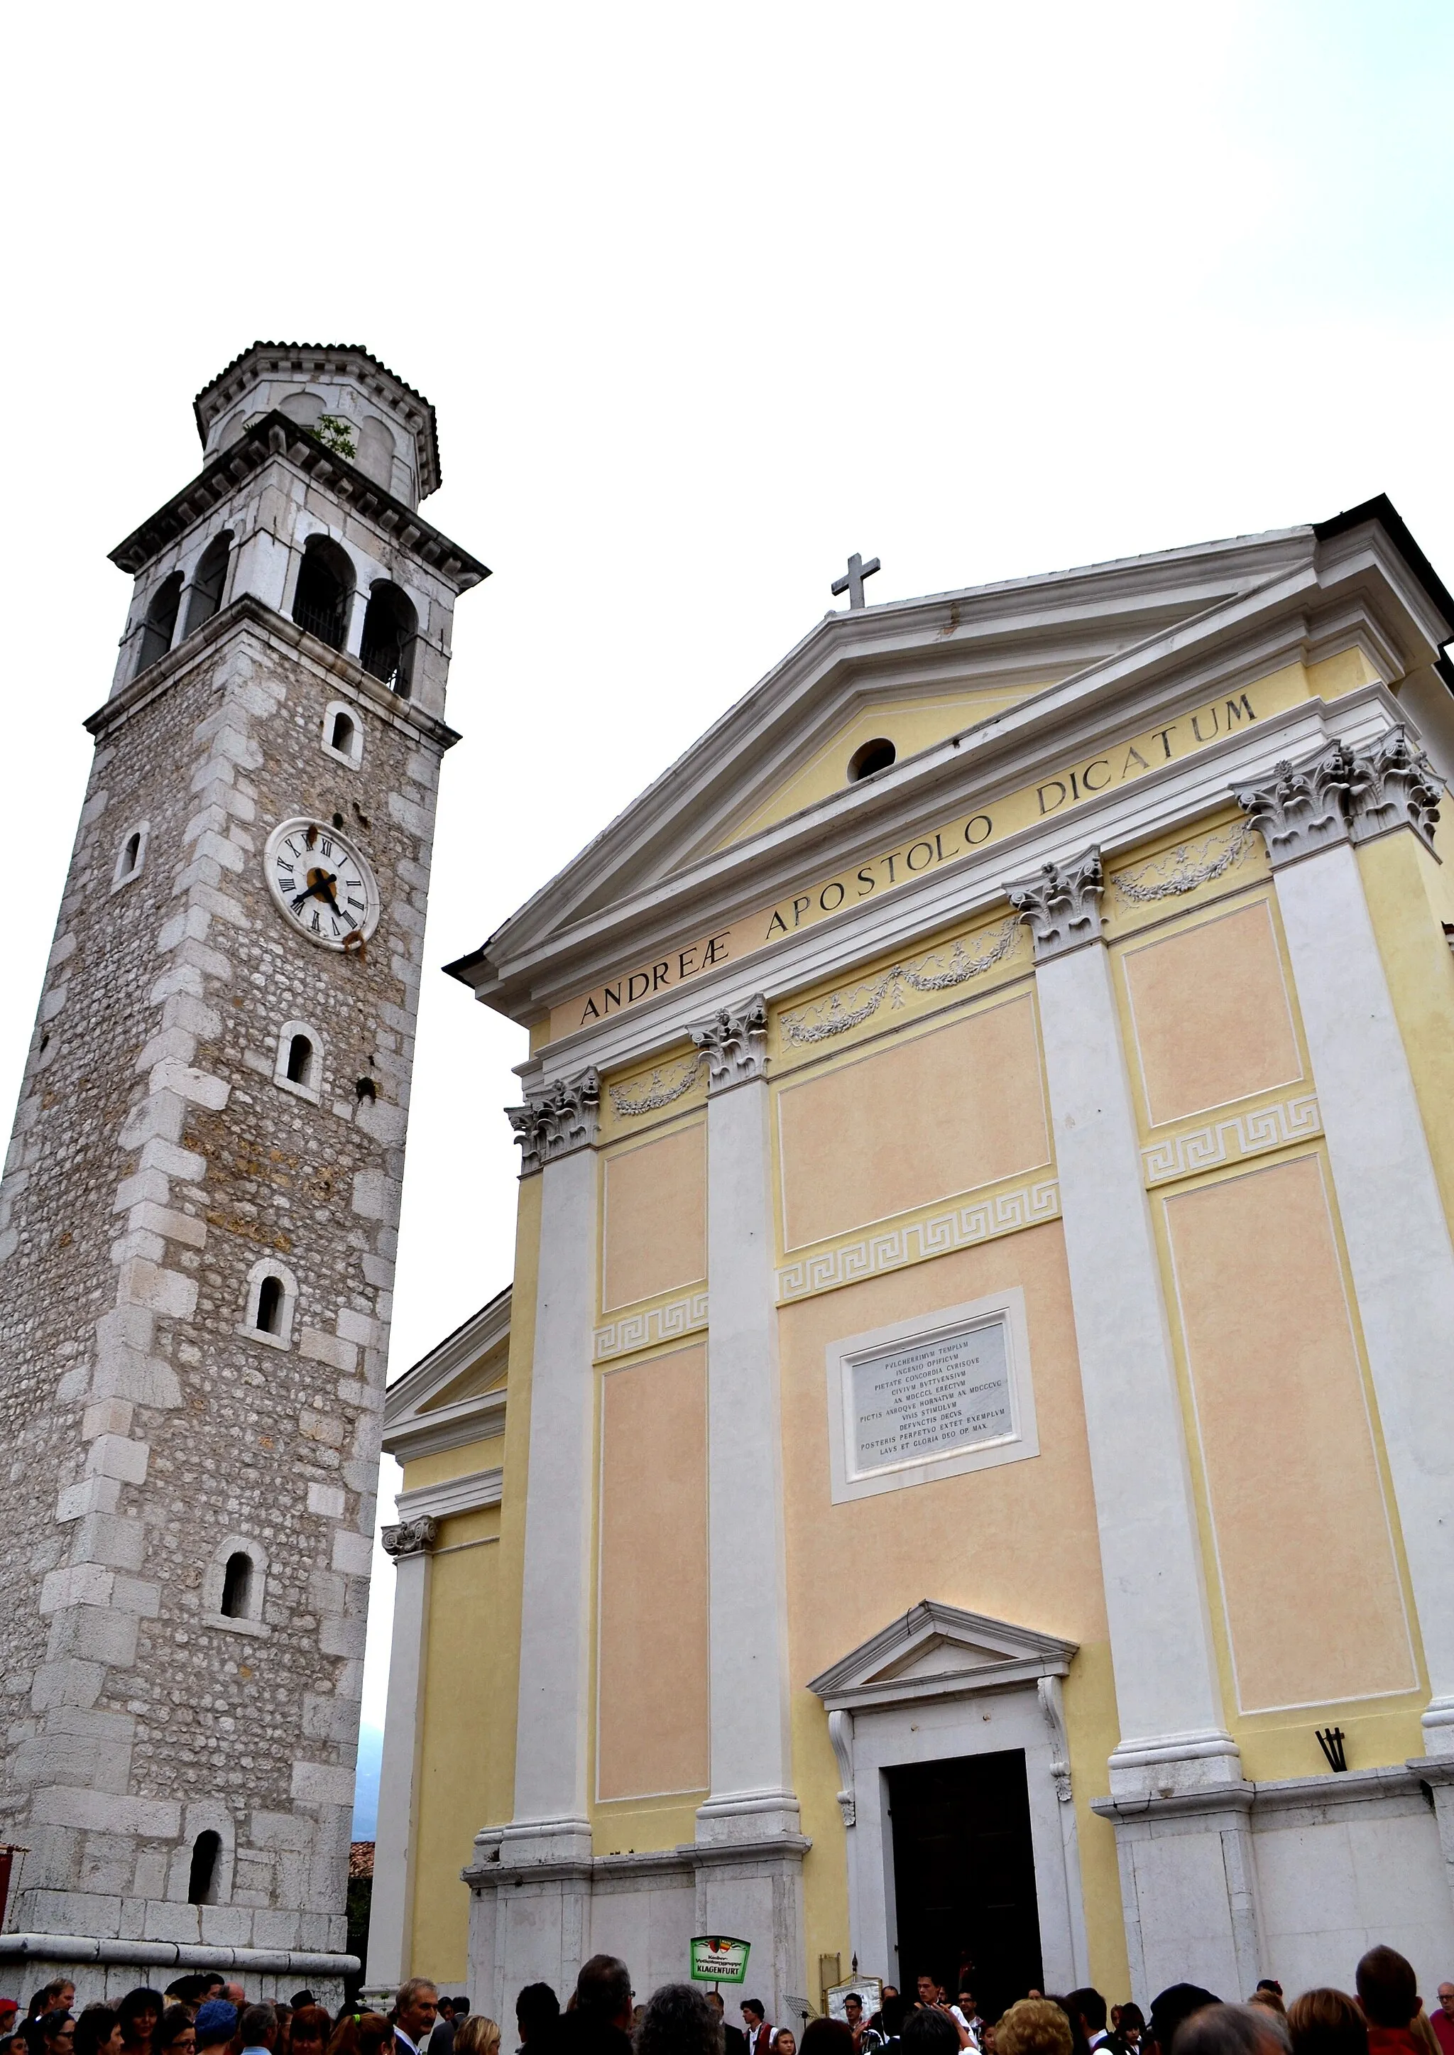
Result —
[{"label": "short white pilaster on the low side wing beside the tower", "polygon": [[366,1981],[370,1989],[392,1991],[411,1975],[409,1936],[417,1858],[413,1827],[419,1796],[433,1525],[433,1521],[413,1521],[409,1527],[384,1529],[386,1547],[390,1535],[411,1545],[390,1547],[394,1558],[394,1632],[388,1644],[384,1761],[378,1778],[374,1897],[368,1923]]}]

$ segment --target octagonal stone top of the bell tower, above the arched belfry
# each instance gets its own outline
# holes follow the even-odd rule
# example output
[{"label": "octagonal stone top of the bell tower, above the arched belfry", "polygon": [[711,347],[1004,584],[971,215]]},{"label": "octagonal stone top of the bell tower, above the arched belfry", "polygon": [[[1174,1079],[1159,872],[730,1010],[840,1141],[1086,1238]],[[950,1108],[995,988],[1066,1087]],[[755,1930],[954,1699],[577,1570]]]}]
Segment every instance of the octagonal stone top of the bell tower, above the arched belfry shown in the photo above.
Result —
[{"label": "octagonal stone top of the bell tower, above the arched belfry", "polygon": [[353,343],[253,343],[193,401],[207,456],[224,450],[273,407],[304,427],[320,415],[345,423],[351,460],[407,506],[439,485],[439,436],[431,403]]}]

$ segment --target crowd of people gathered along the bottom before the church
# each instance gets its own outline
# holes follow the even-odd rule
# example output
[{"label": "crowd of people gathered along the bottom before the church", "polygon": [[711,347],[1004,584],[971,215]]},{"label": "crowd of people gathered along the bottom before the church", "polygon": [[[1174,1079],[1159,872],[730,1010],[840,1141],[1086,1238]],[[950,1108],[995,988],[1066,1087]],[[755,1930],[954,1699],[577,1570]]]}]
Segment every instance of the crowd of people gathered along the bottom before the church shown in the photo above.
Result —
[{"label": "crowd of people gathered along the bottom before the church", "polygon": [[[733,2026],[721,1993],[694,1983],[663,1983],[639,2004],[626,1965],[596,1954],[565,2008],[548,1983],[520,1991],[513,2045],[515,2055],[1454,2055],[1454,1981],[1440,1983],[1429,2014],[1405,1956],[1370,1948],[1353,1987],[1286,2004],[1265,1977],[1247,2004],[1224,2004],[1173,1983],[1148,2018],[1086,1985],[1064,1997],[1029,1991],[988,2020],[965,1979],[951,1997],[922,1975],[912,1997],[883,1985],[869,2010],[850,1991],[842,2018],[809,2018],[799,2032],[772,2024],[756,1997],[741,2000]],[[503,2039],[468,1997],[442,1995],[425,1977],[400,1985],[386,2012],[329,2014],[312,1991],[248,2004],[220,1975],[129,1991],[115,2006],[74,2004],[66,1977],[35,1993],[23,2022],[18,2002],[0,1997],[0,2055],[501,2055]]]}]

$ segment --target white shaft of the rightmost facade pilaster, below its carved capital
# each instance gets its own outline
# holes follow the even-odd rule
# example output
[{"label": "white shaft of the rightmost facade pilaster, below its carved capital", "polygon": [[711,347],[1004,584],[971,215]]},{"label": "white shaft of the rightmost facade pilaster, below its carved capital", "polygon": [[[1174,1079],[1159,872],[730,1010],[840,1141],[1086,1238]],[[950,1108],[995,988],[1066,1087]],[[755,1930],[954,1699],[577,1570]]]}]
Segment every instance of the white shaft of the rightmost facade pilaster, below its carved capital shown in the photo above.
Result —
[{"label": "white shaft of the rightmost facade pilaster, below its carved capital", "polygon": [[1454,1755],[1454,1247],[1357,857],[1337,838],[1273,863],[1429,1667],[1425,1745]]}]

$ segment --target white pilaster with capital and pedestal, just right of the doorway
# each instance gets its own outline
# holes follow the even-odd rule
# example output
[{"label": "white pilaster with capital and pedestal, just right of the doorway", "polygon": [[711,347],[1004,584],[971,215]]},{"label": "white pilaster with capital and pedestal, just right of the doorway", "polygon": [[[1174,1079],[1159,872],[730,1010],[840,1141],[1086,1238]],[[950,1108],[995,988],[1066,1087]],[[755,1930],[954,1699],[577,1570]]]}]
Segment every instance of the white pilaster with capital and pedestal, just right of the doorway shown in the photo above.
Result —
[{"label": "white pilaster with capital and pedestal, just right of the doorway", "polygon": [[1251,1989],[1257,1897],[1224,1728],[1171,1325],[1101,939],[1101,859],[1006,888],[1035,933],[1060,1210],[1076,1317],[1121,1741],[1111,1796],[1132,1989]]}]

